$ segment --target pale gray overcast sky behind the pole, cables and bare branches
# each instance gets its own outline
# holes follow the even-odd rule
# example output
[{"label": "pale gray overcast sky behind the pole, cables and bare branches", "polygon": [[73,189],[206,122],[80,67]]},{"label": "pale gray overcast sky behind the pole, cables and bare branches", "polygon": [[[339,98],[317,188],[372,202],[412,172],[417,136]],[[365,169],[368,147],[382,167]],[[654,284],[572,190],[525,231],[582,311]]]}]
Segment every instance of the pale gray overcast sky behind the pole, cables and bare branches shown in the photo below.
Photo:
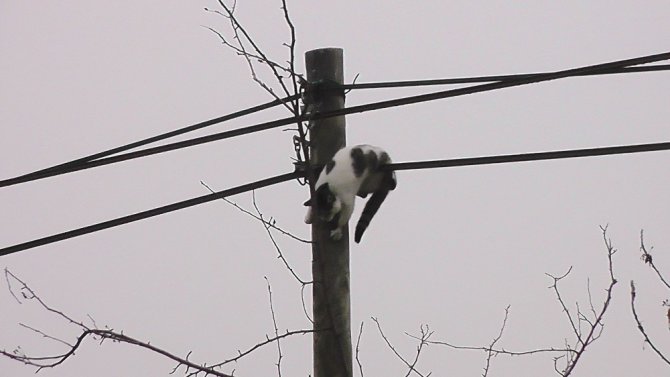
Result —
[{"label": "pale gray overcast sky behind the pole, cables and bare branches", "polygon": [[[288,39],[275,0],[240,2],[238,17],[275,60]],[[345,77],[359,82],[537,72],[668,50],[665,1],[289,1],[304,51],[342,47]],[[3,2],[0,5],[0,177],[7,178],[265,102],[246,63],[202,26],[230,31],[212,1]],[[265,77],[269,81],[269,77]],[[351,115],[348,143],[385,147],[395,161],[471,157],[670,140],[667,73],[505,89]],[[428,89],[432,90],[432,89]],[[351,92],[349,105],[417,90]],[[203,135],[289,114],[275,109]],[[189,137],[195,135],[189,135]],[[279,129],[138,161],[0,189],[0,244],[11,244],[206,194],[292,169],[291,134]],[[645,230],[670,274],[667,152],[398,173],[361,245],[351,247],[354,337],[365,321],[365,374],[406,370],[397,349],[421,324],[434,340],[482,346],[510,318],[500,346],[561,347],[572,332],[546,273],[560,275],[570,308],[600,307],[608,283],[599,225],[615,255],[612,307],[600,340],[574,376],[659,376],[664,365],[637,333],[629,281],[657,345],[670,353],[661,301],[670,295],[639,259]],[[256,193],[266,216],[308,237],[306,188],[287,182]],[[251,195],[233,198],[250,208]],[[359,203],[360,204],[360,203]],[[360,211],[360,205],[358,211]],[[358,213],[357,211],[357,213]],[[358,214],[354,218],[358,218]],[[309,279],[309,248],[276,235]],[[300,286],[260,223],[223,202],[186,209],[3,257],[51,305],[191,360],[234,356],[273,331],[264,276],[281,329],[309,328]],[[306,292],[306,296],[310,296]],[[0,289],[0,347],[63,351],[18,325],[73,340],[76,328]],[[282,343],[286,376],[311,373],[311,338]],[[483,353],[438,346],[419,363],[435,375],[480,375]],[[276,373],[268,346],[236,364],[239,376]],[[93,341],[43,376],[162,376],[174,363],[129,345]],[[2,375],[33,368],[0,359]],[[230,372],[230,369],[224,371]],[[493,360],[491,375],[553,373],[548,354]]]}]

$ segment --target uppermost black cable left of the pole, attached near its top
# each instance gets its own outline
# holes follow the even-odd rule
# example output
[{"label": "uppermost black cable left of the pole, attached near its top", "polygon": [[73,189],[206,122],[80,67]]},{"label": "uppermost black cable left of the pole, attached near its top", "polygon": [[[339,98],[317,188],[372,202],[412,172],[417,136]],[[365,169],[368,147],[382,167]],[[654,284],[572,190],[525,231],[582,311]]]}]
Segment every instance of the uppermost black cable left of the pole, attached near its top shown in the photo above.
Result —
[{"label": "uppermost black cable left of the pole, attached near its top", "polygon": [[[126,144],[126,145],[122,145],[122,146],[115,147],[115,148],[112,148],[112,149],[108,149],[108,150],[105,150],[105,151],[102,151],[102,152],[94,153],[94,154],[84,156],[84,157],[81,157],[81,158],[77,158],[75,160],[64,162],[64,163],[61,163],[61,164],[58,164],[58,165],[50,166],[48,168],[40,169],[40,170],[31,172],[31,173],[28,173],[28,174],[24,174],[24,175],[21,175],[21,176],[12,178],[12,179],[7,179],[7,180],[0,181],[0,187],[10,186],[12,184],[15,184],[13,182],[16,182],[16,183],[28,182],[28,181],[31,181],[31,180],[40,179],[40,178],[44,178],[44,177],[49,177],[49,176],[52,176],[52,175],[58,175],[58,174],[62,174],[62,173],[77,171],[79,169],[75,169],[75,167],[83,166],[84,164],[86,164],[90,161],[96,160],[96,159],[100,159],[100,158],[111,156],[111,155],[114,155],[114,154],[117,154],[117,153],[125,152],[125,151],[130,150],[130,149],[134,149],[134,148],[137,148],[137,147],[141,147],[143,145],[155,143],[157,141],[165,140],[165,139],[168,139],[168,138],[171,138],[171,137],[183,135],[187,132],[196,131],[196,130],[199,130],[199,129],[202,129],[202,128],[205,128],[205,127],[209,127],[209,126],[212,126],[212,125],[215,125],[215,124],[218,124],[218,123],[223,123],[223,122],[226,122],[226,121],[229,121],[229,120],[233,120],[235,118],[240,118],[240,117],[243,117],[245,115],[253,114],[253,113],[256,113],[256,112],[259,112],[259,111],[262,111],[262,110],[267,110],[269,108],[284,104],[286,102],[294,101],[294,100],[299,99],[299,98],[300,98],[300,95],[296,94],[296,95],[288,96],[288,97],[285,97],[285,98],[276,99],[276,100],[266,102],[266,103],[261,104],[261,105],[253,106],[253,107],[250,107],[250,108],[247,108],[247,109],[244,109],[244,110],[236,111],[234,113],[226,114],[224,116],[209,119],[209,120],[206,120],[206,121],[203,121],[203,122],[200,122],[200,123],[196,123],[196,124],[193,124],[193,125],[190,125],[190,126],[182,127],[182,128],[179,128],[179,129],[176,129],[176,130],[173,130],[173,131],[170,131],[170,132],[166,132],[166,133],[163,133],[163,134],[160,134],[160,135],[152,136],[152,137],[142,139],[142,140],[138,140],[138,141]],[[7,183],[7,184],[5,184],[5,183]]]}]

